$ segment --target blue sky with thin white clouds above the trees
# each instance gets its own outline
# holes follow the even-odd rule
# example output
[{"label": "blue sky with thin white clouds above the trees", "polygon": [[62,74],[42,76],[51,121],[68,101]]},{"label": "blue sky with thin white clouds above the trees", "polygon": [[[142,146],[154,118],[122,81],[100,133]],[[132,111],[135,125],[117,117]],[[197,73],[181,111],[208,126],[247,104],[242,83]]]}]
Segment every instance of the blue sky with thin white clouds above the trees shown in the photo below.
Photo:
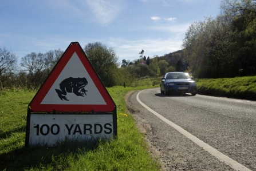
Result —
[{"label": "blue sky with thin white clouds above the trees", "polygon": [[221,0],[0,0],[0,47],[18,59],[66,50],[70,42],[101,42],[119,63],[182,49],[195,21],[220,14]]}]

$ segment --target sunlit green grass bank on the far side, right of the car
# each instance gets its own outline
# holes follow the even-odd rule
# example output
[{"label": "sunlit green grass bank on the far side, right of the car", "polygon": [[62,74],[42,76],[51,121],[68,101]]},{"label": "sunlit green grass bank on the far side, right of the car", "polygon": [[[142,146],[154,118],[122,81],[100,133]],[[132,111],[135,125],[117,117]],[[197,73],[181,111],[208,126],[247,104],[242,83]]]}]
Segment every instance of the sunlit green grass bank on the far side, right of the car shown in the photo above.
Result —
[{"label": "sunlit green grass bank on the far side, right of the car", "polygon": [[198,93],[256,98],[256,76],[196,79]]}]

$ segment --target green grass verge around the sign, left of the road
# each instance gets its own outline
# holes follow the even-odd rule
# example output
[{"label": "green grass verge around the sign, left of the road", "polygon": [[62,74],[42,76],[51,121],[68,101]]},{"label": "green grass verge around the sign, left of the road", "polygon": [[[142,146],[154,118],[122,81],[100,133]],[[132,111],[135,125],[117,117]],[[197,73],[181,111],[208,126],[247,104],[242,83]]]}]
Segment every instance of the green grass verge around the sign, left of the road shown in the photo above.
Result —
[{"label": "green grass verge around the sign, left of the road", "polygon": [[159,163],[148,153],[144,135],[127,113],[126,93],[153,88],[149,78],[137,84],[147,86],[107,88],[117,105],[117,139],[65,140],[58,142],[55,148],[25,148],[27,105],[36,92],[0,92],[0,170],[160,170]]}]

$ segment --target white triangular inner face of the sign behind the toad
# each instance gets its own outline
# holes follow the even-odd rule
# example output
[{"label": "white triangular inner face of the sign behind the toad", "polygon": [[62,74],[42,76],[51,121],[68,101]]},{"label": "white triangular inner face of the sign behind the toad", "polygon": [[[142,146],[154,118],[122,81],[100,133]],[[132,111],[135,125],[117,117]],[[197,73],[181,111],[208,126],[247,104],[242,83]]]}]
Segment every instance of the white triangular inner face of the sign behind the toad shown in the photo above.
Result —
[{"label": "white triangular inner face of the sign behind the toad", "polygon": [[[81,87],[86,92],[80,92]],[[41,104],[106,105],[106,102],[74,52]]]}]

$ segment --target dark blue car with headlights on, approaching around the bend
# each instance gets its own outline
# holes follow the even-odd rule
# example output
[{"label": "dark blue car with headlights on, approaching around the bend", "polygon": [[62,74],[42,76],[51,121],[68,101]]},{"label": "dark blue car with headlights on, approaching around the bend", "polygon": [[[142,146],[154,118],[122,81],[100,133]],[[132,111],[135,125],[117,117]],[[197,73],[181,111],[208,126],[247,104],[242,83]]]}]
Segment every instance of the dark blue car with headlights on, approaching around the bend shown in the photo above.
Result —
[{"label": "dark blue car with headlights on, approaching around the bend", "polygon": [[160,92],[163,94],[191,93],[196,95],[196,82],[188,73],[170,72],[166,73],[160,83]]}]

